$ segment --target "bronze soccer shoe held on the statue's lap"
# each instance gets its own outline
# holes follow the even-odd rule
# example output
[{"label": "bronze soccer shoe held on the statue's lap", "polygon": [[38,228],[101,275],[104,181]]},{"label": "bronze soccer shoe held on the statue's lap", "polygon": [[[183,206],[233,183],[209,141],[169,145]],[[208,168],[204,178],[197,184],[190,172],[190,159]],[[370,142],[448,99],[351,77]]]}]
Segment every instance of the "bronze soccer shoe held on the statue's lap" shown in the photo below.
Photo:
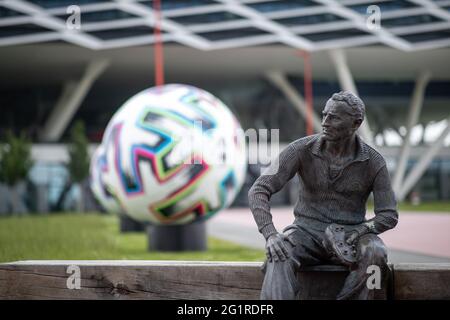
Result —
[{"label": "bronze soccer shoe held on the statue's lap", "polygon": [[339,224],[330,224],[325,229],[324,246],[346,266],[356,263],[357,252],[354,245],[345,241],[345,229]]}]

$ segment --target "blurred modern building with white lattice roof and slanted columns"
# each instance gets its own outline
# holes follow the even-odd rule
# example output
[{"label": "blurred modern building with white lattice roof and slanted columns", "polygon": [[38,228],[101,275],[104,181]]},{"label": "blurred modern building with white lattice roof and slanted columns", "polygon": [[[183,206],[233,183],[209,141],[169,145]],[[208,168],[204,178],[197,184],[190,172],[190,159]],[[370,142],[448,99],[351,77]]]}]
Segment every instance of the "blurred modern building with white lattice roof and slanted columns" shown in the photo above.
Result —
[{"label": "blurred modern building with white lattice roof and slanted columns", "polygon": [[450,199],[450,1],[161,4],[159,20],[152,1],[0,1],[0,135],[33,138],[30,179],[52,205],[74,120],[98,143],[115,110],[155,84],[155,26],[166,83],[212,92],[244,129],[279,129],[282,143],[306,134],[305,66],[316,124],[332,93],[357,92],[367,111],[361,134],[388,159],[400,198]]}]

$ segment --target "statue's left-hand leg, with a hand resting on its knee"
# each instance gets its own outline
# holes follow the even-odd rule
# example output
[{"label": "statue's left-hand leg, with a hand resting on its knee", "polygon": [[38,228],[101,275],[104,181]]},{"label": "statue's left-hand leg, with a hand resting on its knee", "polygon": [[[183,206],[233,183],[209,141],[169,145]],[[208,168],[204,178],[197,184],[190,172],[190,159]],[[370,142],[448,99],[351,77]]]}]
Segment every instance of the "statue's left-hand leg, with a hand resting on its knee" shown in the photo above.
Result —
[{"label": "statue's left-hand leg, with a hand resting on its knee", "polygon": [[264,282],[261,288],[262,300],[294,300],[298,298],[300,285],[297,270],[302,265],[320,263],[320,258],[312,255],[321,251],[312,236],[300,228],[287,228],[284,232],[295,243],[293,247],[287,240],[286,246],[290,258],[286,261],[266,261],[263,272]]}]

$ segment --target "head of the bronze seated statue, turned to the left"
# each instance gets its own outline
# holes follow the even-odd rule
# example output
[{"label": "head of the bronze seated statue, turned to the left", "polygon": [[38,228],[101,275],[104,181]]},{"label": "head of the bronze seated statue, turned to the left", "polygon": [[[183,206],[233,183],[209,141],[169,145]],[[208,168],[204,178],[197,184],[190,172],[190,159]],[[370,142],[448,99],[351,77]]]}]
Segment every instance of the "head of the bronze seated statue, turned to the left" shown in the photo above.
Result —
[{"label": "head of the bronze seated statue, turned to the left", "polygon": [[350,137],[364,120],[364,102],[350,91],[341,91],[328,99],[322,111],[322,129],[326,140]]}]

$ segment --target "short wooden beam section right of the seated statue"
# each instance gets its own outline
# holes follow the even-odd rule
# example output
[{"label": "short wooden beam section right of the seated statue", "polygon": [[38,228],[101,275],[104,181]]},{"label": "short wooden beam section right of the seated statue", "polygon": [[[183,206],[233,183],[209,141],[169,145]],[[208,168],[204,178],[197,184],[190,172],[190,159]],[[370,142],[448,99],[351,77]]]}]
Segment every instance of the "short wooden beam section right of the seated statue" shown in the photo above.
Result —
[{"label": "short wooden beam section right of the seated statue", "polygon": [[450,299],[450,263],[395,264],[394,299]]}]

